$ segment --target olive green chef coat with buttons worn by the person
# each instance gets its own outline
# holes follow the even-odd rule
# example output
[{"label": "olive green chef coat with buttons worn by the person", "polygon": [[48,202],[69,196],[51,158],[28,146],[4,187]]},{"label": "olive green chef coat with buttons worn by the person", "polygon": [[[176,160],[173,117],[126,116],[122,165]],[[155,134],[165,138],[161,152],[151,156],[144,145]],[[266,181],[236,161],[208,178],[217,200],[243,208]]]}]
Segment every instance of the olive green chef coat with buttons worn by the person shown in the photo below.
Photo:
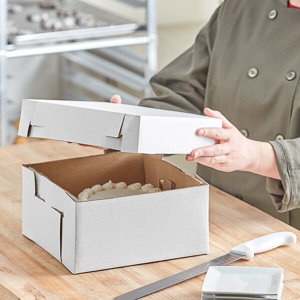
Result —
[{"label": "olive green chef coat with buttons worn by the person", "polygon": [[[219,110],[248,138],[269,141],[280,180],[198,165],[210,184],[300,229],[300,9],[287,0],[225,0],[195,43],[150,81],[140,105]],[[174,37],[175,38],[175,37]]]}]

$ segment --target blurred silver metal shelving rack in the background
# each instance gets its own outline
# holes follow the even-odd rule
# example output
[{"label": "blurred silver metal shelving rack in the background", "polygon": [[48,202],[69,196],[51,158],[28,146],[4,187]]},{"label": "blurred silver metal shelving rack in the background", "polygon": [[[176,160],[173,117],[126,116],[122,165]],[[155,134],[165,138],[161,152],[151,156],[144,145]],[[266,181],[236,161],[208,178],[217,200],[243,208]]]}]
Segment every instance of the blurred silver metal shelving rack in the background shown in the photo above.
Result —
[{"label": "blurred silver metal shelving rack in the background", "polygon": [[[128,85],[135,84],[135,89],[144,90],[144,95],[151,94],[151,89],[148,82],[149,78],[157,70],[157,32],[156,32],[156,1],[155,0],[119,0],[133,7],[143,7],[146,12],[146,22],[143,28],[132,30],[132,32],[125,32],[126,34],[119,34],[113,36],[113,34],[101,36],[100,38],[84,38],[81,40],[76,39],[76,34],[70,40],[36,40],[33,42],[27,42],[24,45],[14,45],[7,43],[6,22],[7,22],[7,0],[0,0],[0,145],[7,145],[9,143],[8,136],[8,111],[7,111],[7,59],[13,57],[25,57],[40,54],[50,53],[62,53],[63,59],[75,62],[77,64],[82,63],[84,67],[96,68],[100,67],[101,70],[105,70],[108,73],[109,69],[114,69],[114,80],[121,81],[121,83]],[[128,34],[129,33],[129,34]],[[57,31],[59,36],[59,31]],[[146,58],[143,59],[138,55],[133,55],[126,49],[120,48],[121,46],[144,44],[146,46]],[[142,75],[134,73],[132,69],[127,70],[124,66],[118,66],[115,62],[103,59],[91,53],[93,50],[101,52],[105,55],[109,54],[111,57],[121,59],[123,56],[126,60],[126,64],[134,67],[140,65],[139,70],[143,68]],[[127,51],[127,52],[126,52]],[[129,67],[130,68],[130,67]],[[117,73],[119,77],[117,77]],[[66,67],[66,71],[63,72],[63,78],[72,81],[74,84],[80,83],[82,76],[85,76],[85,81],[92,88],[92,84],[98,84],[97,87],[103,89],[107,96],[112,91],[112,86],[105,82],[95,81],[93,78],[89,78],[88,75],[82,72],[70,71]],[[81,77],[80,77],[81,76]],[[128,80],[128,78],[131,79]],[[119,79],[120,78],[120,79]],[[133,83],[132,83],[133,82]],[[115,93],[118,89],[113,90]],[[102,96],[105,96],[102,94]],[[132,97],[130,94],[123,92],[124,102],[137,104],[137,98]]]}]

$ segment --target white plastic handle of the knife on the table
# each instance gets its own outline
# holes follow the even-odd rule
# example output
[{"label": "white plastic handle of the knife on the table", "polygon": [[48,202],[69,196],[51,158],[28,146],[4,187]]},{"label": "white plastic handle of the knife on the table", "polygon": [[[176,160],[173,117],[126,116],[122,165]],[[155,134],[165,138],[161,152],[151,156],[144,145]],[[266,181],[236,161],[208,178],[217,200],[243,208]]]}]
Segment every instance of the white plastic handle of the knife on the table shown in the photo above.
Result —
[{"label": "white plastic handle of the knife on the table", "polygon": [[245,255],[244,259],[252,259],[256,253],[295,243],[296,239],[296,235],[290,231],[270,233],[235,246],[229,250],[229,253]]}]

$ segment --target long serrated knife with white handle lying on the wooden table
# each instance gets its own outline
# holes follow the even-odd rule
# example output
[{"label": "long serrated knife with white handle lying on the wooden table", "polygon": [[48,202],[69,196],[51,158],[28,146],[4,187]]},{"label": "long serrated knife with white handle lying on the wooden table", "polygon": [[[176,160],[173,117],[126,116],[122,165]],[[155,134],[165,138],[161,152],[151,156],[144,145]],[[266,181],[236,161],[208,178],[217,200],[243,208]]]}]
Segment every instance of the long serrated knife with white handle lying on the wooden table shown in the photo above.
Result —
[{"label": "long serrated knife with white handle lying on the wooden table", "polygon": [[229,250],[229,253],[214,258],[207,262],[198,264],[189,269],[173,274],[166,278],[157,280],[147,285],[128,291],[124,294],[116,296],[113,300],[135,300],[153,292],[169,287],[176,283],[182,282],[189,278],[203,274],[211,265],[225,265],[240,258],[252,259],[254,254],[265,252],[281,245],[292,244],[296,242],[296,235],[290,231],[281,231],[266,234],[252,240],[246,241]]}]

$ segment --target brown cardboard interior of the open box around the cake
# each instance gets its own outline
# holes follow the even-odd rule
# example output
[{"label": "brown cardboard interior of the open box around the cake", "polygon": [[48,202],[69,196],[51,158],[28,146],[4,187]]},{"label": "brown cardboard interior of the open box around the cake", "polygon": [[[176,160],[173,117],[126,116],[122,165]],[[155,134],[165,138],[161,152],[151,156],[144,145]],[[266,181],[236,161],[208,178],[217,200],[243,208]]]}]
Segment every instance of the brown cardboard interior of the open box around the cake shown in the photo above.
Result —
[{"label": "brown cardboard interior of the open box around the cake", "polygon": [[112,152],[102,155],[27,164],[63,189],[77,195],[94,184],[124,181],[127,185],[140,182],[159,187],[160,179],[168,179],[176,188],[206,184],[193,179],[177,167],[153,155]]}]

